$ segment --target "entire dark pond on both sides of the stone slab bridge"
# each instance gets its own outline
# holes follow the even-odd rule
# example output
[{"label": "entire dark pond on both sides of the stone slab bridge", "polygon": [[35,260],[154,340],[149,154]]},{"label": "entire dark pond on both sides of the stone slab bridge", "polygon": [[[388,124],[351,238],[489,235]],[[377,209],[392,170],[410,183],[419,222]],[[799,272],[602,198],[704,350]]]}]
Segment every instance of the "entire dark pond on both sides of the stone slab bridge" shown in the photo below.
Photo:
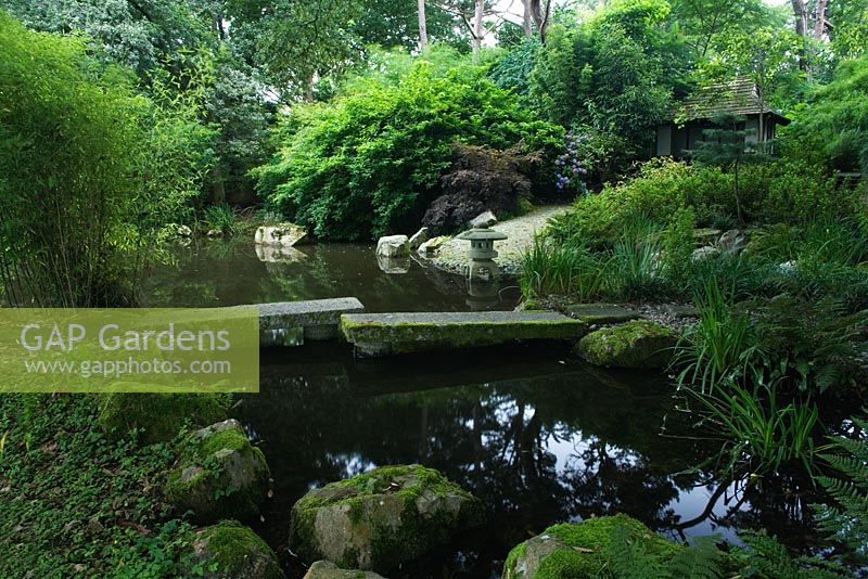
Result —
[{"label": "entire dark pond on both sides of the stone slab bridge", "polygon": [[[151,305],[218,306],[353,295],[371,311],[469,310],[460,276],[412,261],[383,271],[369,246],[317,245],[263,262],[246,244],[176,247]],[[506,281],[486,307],[512,309]],[[305,492],[375,466],[419,463],[480,497],[487,524],[390,577],[499,577],[509,549],[564,520],[631,515],[673,539],[766,527],[813,540],[809,484],[762,491],[686,472],[714,455],[676,409],[666,376],[604,371],[560,346],[519,345],[380,360],[320,343],[261,350],[260,394],[238,412],[268,459],[275,497],[256,530],[290,577],[289,514]],[[679,474],[680,473],[680,474]]]}]

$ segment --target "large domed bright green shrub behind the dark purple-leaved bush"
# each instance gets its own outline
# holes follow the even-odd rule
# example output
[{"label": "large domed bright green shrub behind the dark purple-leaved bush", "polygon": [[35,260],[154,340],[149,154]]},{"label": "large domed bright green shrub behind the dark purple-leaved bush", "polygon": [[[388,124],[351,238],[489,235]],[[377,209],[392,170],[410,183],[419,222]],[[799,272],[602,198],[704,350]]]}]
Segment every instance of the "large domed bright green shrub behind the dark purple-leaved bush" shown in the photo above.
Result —
[{"label": "large domed bright green shrub behind the dark purple-leaved bush", "polygon": [[294,106],[280,152],[256,171],[270,206],[324,239],[417,227],[442,192],[455,142],[499,150],[522,142],[544,158],[562,146],[560,128],[534,120],[484,68],[461,61],[443,70],[418,59],[398,79],[372,74],[352,87],[328,104]]}]

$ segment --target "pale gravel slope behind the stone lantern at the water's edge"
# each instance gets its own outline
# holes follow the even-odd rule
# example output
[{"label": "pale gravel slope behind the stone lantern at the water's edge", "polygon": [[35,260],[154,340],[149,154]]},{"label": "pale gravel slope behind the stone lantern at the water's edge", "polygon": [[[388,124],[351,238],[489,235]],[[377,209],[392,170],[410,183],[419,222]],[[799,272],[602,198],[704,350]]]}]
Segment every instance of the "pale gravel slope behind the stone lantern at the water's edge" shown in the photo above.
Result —
[{"label": "pale gravel slope behind the stone lantern at the water's edge", "polygon": [[[506,233],[508,239],[495,242],[498,257],[495,259],[500,266],[501,273],[514,275],[521,265],[522,255],[534,243],[534,235],[542,231],[549,219],[556,215],[566,213],[571,205],[551,205],[497,223],[492,229]],[[470,242],[451,239],[441,245],[437,255],[431,261],[446,271],[462,273],[468,263],[468,245]]]}]

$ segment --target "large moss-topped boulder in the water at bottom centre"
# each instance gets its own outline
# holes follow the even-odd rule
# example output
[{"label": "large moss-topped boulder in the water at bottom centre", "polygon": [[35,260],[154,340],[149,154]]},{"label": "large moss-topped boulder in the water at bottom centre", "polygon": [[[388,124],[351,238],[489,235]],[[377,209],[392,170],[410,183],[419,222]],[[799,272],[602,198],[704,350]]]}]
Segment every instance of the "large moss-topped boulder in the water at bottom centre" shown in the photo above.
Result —
[{"label": "large moss-topped boulder in the water at bottom centre", "polygon": [[290,548],[307,563],[386,572],[482,519],[480,501],[437,471],[384,466],[305,494]]}]

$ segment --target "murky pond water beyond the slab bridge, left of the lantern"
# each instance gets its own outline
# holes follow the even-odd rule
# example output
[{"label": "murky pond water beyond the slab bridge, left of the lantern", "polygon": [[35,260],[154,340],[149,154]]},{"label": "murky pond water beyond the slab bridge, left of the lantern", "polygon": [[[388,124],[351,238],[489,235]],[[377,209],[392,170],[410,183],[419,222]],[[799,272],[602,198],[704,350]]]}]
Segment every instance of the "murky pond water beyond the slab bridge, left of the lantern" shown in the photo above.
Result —
[{"label": "murky pond water beyond the slab bridge, left of the lantern", "polygon": [[173,244],[173,263],[144,279],[146,306],[212,307],[354,296],[368,311],[511,310],[519,301],[514,283],[473,301],[461,275],[445,273],[414,258],[378,259],[357,244],[298,247],[257,246],[226,240]]}]

